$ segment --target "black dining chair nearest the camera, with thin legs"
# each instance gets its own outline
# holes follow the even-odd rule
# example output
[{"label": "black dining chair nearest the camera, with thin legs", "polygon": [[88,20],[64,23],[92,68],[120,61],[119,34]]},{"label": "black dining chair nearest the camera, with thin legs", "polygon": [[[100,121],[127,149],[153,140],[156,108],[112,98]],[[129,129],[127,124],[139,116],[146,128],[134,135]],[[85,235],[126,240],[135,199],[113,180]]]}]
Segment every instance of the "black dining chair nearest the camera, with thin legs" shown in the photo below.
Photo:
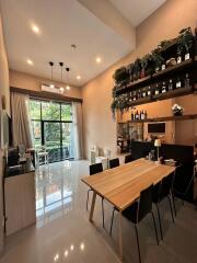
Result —
[{"label": "black dining chair nearest the camera, with thin legs", "polygon": [[[154,226],[155,231],[155,238],[157,243],[159,244],[159,238],[158,238],[158,230],[155,225],[155,218],[154,214],[152,211],[152,193],[153,193],[153,185],[150,185],[148,188],[141,191],[139,199],[137,199],[131,206],[126,208],[123,211],[123,215],[134,222],[135,225],[135,231],[136,231],[136,238],[137,238],[137,244],[138,244],[138,255],[139,261],[141,262],[141,253],[140,253],[140,245],[139,245],[139,237],[138,237],[138,228],[137,225],[150,213],[152,215],[152,221]],[[112,217],[111,222],[111,233],[112,233],[112,226],[113,226],[114,215]]]}]

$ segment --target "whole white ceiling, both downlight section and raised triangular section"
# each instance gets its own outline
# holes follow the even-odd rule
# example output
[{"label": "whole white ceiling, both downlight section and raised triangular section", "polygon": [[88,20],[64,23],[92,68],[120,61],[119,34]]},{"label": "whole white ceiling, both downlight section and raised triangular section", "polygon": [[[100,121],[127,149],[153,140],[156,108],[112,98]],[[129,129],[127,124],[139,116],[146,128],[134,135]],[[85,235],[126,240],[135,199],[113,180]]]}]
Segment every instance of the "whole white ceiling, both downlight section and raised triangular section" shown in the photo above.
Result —
[{"label": "whole white ceiling, both downlight section and raised triangular section", "polygon": [[[127,20],[126,10],[131,10],[134,21],[129,21],[135,25],[164,2],[109,1]],[[11,69],[50,78],[48,61],[54,61],[54,79],[60,80],[58,62],[63,61],[71,69],[69,84],[82,85],[134,49],[121,34],[78,0],[0,0],[0,4]],[[39,35],[32,32],[31,23],[38,25]],[[71,44],[77,45],[76,50]],[[100,65],[95,62],[96,56],[102,58]],[[34,65],[27,65],[26,59],[32,59]],[[77,80],[77,75],[81,80]]]}]

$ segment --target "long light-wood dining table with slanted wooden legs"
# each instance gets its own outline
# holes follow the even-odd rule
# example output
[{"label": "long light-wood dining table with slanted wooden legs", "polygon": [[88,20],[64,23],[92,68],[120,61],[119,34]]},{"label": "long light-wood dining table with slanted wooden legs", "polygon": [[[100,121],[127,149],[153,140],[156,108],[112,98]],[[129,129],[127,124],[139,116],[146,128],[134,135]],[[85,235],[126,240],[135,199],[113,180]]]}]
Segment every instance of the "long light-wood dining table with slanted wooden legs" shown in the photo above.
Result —
[{"label": "long light-wood dining table with slanted wooden legs", "polygon": [[119,231],[119,258],[123,262],[121,213],[139,198],[140,192],[151,184],[157,184],[163,178],[175,172],[175,167],[160,164],[146,159],[121,164],[94,175],[81,179],[93,190],[89,220],[93,221],[96,195],[107,199],[117,208]]}]

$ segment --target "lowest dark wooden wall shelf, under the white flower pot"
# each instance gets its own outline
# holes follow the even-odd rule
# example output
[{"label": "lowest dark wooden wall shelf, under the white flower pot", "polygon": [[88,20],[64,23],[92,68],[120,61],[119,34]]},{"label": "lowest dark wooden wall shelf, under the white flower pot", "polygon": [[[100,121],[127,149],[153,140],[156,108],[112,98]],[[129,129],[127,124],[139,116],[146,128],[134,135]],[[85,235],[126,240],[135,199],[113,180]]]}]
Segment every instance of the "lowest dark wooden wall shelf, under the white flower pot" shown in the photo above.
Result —
[{"label": "lowest dark wooden wall shelf, under the white flower pot", "polygon": [[157,117],[157,118],[147,118],[147,119],[137,119],[128,121],[130,123],[151,123],[151,122],[172,122],[172,121],[186,121],[186,119],[196,119],[197,114],[182,115],[182,116],[166,116],[166,117]]}]

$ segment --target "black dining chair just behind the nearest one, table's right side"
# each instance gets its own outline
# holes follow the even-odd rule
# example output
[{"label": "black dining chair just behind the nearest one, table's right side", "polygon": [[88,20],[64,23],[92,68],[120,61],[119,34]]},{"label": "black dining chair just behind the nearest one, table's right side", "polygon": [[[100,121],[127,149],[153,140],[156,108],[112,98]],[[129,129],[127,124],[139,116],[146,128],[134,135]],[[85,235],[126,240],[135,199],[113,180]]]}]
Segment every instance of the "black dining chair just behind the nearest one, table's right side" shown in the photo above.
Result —
[{"label": "black dining chair just behind the nearest one, table's right side", "polygon": [[[160,232],[161,232],[161,239],[163,240],[163,230],[162,230],[162,224],[161,224],[161,214],[160,214],[160,203],[167,197],[169,204],[170,204],[170,209],[171,209],[171,215],[172,215],[172,221],[174,222],[174,214],[173,214],[173,196],[172,196],[172,184],[173,184],[173,178],[174,173],[167,175],[166,178],[162,179],[161,182],[154,185],[153,187],[153,203],[157,206],[158,210],[158,218],[159,218],[159,225],[160,225]],[[174,205],[175,209],[175,205]]]}]

